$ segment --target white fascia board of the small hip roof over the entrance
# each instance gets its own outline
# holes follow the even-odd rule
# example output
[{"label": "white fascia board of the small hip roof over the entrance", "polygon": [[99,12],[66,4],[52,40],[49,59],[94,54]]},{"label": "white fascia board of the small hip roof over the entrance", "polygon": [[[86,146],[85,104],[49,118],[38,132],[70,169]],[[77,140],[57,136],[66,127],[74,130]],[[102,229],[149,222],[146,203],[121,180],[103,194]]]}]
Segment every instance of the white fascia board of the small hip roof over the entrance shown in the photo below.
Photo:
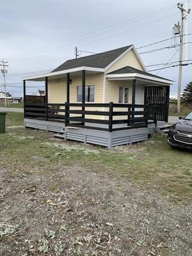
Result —
[{"label": "white fascia board of the small hip roof over the entrance", "polygon": [[109,79],[120,79],[120,78],[123,78],[123,79],[147,79],[147,80],[150,80],[150,81],[156,81],[156,82],[159,82],[159,83],[166,83],[166,84],[174,84],[173,81],[170,81],[170,80],[166,80],[166,79],[163,79],[163,78],[158,78],[158,77],[152,77],[152,76],[147,76],[147,75],[143,75],[143,74],[138,74],[138,73],[131,73],[131,74],[108,74],[106,75],[106,78],[109,78]]}]

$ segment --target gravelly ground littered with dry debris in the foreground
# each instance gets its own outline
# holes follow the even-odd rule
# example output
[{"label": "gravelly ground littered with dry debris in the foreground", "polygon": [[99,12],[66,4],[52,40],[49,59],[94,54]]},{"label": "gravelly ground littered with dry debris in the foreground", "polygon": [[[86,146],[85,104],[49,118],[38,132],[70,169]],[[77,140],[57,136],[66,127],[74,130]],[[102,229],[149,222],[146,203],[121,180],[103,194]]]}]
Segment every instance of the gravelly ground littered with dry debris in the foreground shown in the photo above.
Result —
[{"label": "gravelly ground littered with dry debris in the foreground", "polygon": [[191,206],[118,174],[1,170],[1,255],[191,255]]}]

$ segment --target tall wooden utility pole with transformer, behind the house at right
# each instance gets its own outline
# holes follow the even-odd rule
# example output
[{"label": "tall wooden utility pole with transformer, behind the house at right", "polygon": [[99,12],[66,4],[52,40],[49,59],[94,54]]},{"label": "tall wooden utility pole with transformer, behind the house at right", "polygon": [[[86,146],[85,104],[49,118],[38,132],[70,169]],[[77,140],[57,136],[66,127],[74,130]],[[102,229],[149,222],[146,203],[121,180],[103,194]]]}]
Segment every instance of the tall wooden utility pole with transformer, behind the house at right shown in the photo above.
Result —
[{"label": "tall wooden utility pole with transformer, behind the house at right", "polygon": [[191,9],[185,10],[183,4],[177,3],[177,8],[181,12],[181,22],[178,25],[175,24],[177,29],[179,29],[179,79],[178,79],[178,88],[177,88],[177,113],[180,113],[180,93],[181,93],[181,81],[182,81],[182,51],[183,51],[183,30],[184,30],[184,20],[186,20],[188,14],[191,12]]}]

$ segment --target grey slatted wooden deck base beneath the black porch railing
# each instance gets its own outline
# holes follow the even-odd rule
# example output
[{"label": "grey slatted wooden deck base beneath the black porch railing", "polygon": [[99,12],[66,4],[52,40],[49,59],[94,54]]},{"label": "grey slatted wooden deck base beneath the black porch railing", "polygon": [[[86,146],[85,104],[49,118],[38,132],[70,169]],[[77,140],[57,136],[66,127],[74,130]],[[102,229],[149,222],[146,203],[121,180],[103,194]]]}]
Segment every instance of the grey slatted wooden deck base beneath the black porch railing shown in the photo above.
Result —
[{"label": "grey slatted wooden deck base beneath the black porch railing", "polygon": [[[88,125],[85,123],[85,125]],[[100,125],[97,124],[97,127]],[[81,141],[83,143],[92,143],[95,145],[101,145],[104,147],[112,148],[118,145],[131,145],[134,142],[145,141],[148,138],[148,134],[156,132],[156,125],[149,124],[148,127],[126,129],[122,131],[99,131],[89,128],[84,129],[82,127],[65,127],[64,122],[52,122],[45,120],[37,120],[32,118],[24,119],[24,127],[40,129],[45,131],[57,132],[56,137],[63,138],[65,140]],[[104,127],[102,125],[102,127]],[[119,127],[119,125],[118,125]],[[125,127],[125,125],[122,127]]]}]

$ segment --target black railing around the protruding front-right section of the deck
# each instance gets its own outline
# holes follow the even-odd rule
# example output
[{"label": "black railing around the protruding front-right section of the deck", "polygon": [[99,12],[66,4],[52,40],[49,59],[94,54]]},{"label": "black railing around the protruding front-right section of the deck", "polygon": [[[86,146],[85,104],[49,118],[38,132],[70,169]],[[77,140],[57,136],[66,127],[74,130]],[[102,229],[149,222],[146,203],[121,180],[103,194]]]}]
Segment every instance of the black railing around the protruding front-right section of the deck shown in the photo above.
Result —
[{"label": "black railing around the protruding front-right section of the deck", "polygon": [[[105,110],[99,109],[95,111],[87,110],[86,108],[105,108]],[[113,102],[104,104],[65,103],[65,109],[67,109],[65,113],[65,115],[67,116],[67,118],[65,118],[65,125],[73,127],[77,126],[112,132],[132,128],[148,127],[149,120],[151,120],[151,122],[155,124],[157,122],[156,108],[154,106],[149,107],[147,105],[115,104]],[[88,118],[88,115],[94,117]],[[102,118],[95,118],[95,116],[102,116]],[[108,118],[106,118],[106,116],[108,116]],[[127,118],[124,118],[122,116],[127,116]],[[77,124],[73,124],[72,122],[77,122]],[[90,124],[95,124],[95,126]]]}]

